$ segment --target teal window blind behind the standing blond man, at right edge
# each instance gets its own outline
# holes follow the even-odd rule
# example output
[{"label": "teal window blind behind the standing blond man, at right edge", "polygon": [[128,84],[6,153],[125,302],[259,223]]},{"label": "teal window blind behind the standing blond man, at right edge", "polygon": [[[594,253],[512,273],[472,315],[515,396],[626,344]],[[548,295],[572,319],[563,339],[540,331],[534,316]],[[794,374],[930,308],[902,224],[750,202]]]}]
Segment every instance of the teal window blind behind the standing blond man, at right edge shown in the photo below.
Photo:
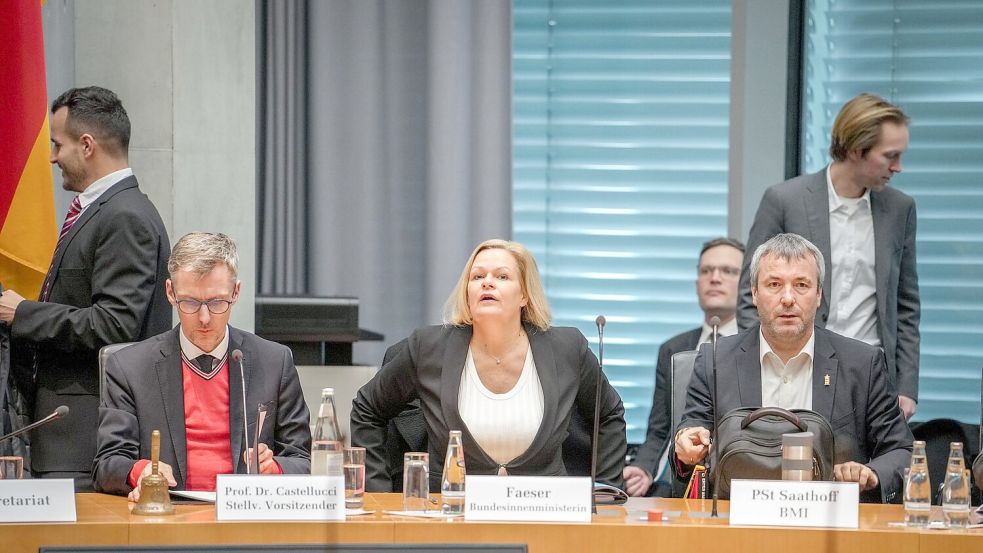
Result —
[{"label": "teal window blind behind the standing blond man, at right edge", "polygon": [[983,3],[810,0],[803,170],[828,160],[839,107],[879,94],[912,119],[903,172],[918,208],[919,420],[980,420],[983,363]]}]

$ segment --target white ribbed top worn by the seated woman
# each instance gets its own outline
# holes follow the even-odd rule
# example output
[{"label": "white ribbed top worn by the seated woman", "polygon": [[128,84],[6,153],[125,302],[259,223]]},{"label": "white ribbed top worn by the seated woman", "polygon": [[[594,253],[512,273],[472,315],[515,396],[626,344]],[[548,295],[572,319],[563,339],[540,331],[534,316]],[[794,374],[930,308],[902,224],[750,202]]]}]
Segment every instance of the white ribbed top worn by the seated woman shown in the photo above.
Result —
[{"label": "white ribbed top worn by the seated woman", "polygon": [[543,385],[532,358],[532,347],[526,351],[519,380],[503,394],[496,394],[482,384],[469,348],[457,408],[474,440],[501,465],[498,473],[506,474],[504,465],[529,449],[543,422]]}]

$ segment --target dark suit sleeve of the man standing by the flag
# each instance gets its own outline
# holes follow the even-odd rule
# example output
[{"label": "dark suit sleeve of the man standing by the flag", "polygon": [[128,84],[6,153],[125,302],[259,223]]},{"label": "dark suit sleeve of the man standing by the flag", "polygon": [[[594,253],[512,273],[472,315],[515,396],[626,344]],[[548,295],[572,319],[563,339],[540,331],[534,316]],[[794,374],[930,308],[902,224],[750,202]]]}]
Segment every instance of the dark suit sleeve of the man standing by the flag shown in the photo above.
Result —
[{"label": "dark suit sleeve of the man standing by the flag", "polygon": [[[100,228],[91,261],[91,305],[21,302],[11,326],[16,338],[63,351],[95,351],[139,338],[154,289],[164,285],[157,278],[161,236],[135,211],[92,222]],[[72,268],[63,262],[58,278]]]}]

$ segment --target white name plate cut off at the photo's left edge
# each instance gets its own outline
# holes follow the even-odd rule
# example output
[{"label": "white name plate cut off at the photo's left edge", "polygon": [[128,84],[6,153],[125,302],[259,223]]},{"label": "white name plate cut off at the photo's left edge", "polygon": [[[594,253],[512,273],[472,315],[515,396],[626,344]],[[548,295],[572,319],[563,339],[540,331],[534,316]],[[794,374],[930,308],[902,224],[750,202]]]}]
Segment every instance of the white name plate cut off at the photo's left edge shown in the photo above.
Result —
[{"label": "white name plate cut off at the photo's left edge", "polygon": [[0,480],[0,522],[75,522],[71,478]]}]

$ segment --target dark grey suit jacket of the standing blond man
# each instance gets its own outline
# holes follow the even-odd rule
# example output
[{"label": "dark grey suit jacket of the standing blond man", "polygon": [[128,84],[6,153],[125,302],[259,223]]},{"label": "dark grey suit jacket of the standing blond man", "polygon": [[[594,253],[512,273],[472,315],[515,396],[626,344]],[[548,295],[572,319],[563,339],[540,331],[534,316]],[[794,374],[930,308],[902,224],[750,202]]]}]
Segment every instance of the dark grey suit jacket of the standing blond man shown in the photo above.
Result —
[{"label": "dark grey suit jacket of the standing blond man", "polygon": [[[915,263],[915,202],[898,189],[887,187],[870,193],[870,207],[874,220],[877,335],[887,355],[891,382],[899,394],[917,400],[921,302]],[[748,236],[744,270],[741,271],[737,322],[742,330],[758,322],[757,309],[751,303],[751,256],[758,246],[782,232],[794,232],[805,237],[826,258],[823,300],[816,314],[816,324],[826,326],[833,272],[826,169],[776,184],[761,198]]]}]

